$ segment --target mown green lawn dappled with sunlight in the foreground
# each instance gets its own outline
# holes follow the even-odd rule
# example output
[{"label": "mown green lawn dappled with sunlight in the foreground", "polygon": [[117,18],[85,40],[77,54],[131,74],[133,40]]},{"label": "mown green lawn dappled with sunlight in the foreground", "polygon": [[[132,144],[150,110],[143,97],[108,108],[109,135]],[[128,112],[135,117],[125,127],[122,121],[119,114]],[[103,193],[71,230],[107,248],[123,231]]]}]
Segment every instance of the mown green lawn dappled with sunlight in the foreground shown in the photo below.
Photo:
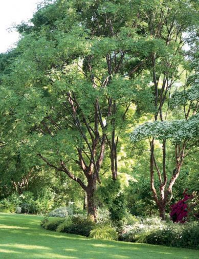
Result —
[{"label": "mown green lawn dappled with sunlight in the foreground", "polygon": [[0,258],[196,259],[199,251],[99,241],[40,227],[42,217],[0,213]]}]

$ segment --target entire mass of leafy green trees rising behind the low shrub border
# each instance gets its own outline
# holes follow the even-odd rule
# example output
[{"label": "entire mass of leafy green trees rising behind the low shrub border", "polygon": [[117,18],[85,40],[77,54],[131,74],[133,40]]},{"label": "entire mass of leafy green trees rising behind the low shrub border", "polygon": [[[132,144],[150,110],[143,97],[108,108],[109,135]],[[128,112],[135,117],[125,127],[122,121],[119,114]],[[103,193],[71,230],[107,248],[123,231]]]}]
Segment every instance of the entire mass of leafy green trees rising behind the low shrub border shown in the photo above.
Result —
[{"label": "entire mass of leafy green trees rising behind the low shrub border", "polygon": [[45,1],[18,25],[0,55],[0,199],[30,191],[93,221],[196,199],[198,4]]}]

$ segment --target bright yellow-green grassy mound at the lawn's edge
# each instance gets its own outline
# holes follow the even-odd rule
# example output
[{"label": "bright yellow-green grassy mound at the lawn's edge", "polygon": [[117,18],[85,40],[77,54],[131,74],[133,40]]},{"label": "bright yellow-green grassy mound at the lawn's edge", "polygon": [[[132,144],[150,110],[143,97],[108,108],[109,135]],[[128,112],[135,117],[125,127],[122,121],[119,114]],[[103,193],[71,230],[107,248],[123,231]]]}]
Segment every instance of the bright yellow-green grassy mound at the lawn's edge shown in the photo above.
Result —
[{"label": "bright yellow-green grassy mound at the lawn's edge", "polygon": [[90,232],[90,237],[93,239],[102,239],[102,240],[117,240],[118,234],[116,229],[108,225],[97,225]]}]

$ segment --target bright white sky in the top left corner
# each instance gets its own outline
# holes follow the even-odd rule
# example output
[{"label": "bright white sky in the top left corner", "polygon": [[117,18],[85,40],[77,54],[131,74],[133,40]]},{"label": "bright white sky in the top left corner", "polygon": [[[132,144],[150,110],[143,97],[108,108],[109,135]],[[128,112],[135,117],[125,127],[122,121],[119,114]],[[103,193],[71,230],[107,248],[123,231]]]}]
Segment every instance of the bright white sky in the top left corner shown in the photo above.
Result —
[{"label": "bright white sky in the top left corner", "polygon": [[19,34],[9,32],[13,24],[28,21],[36,11],[39,0],[0,0],[0,53],[14,47]]}]

